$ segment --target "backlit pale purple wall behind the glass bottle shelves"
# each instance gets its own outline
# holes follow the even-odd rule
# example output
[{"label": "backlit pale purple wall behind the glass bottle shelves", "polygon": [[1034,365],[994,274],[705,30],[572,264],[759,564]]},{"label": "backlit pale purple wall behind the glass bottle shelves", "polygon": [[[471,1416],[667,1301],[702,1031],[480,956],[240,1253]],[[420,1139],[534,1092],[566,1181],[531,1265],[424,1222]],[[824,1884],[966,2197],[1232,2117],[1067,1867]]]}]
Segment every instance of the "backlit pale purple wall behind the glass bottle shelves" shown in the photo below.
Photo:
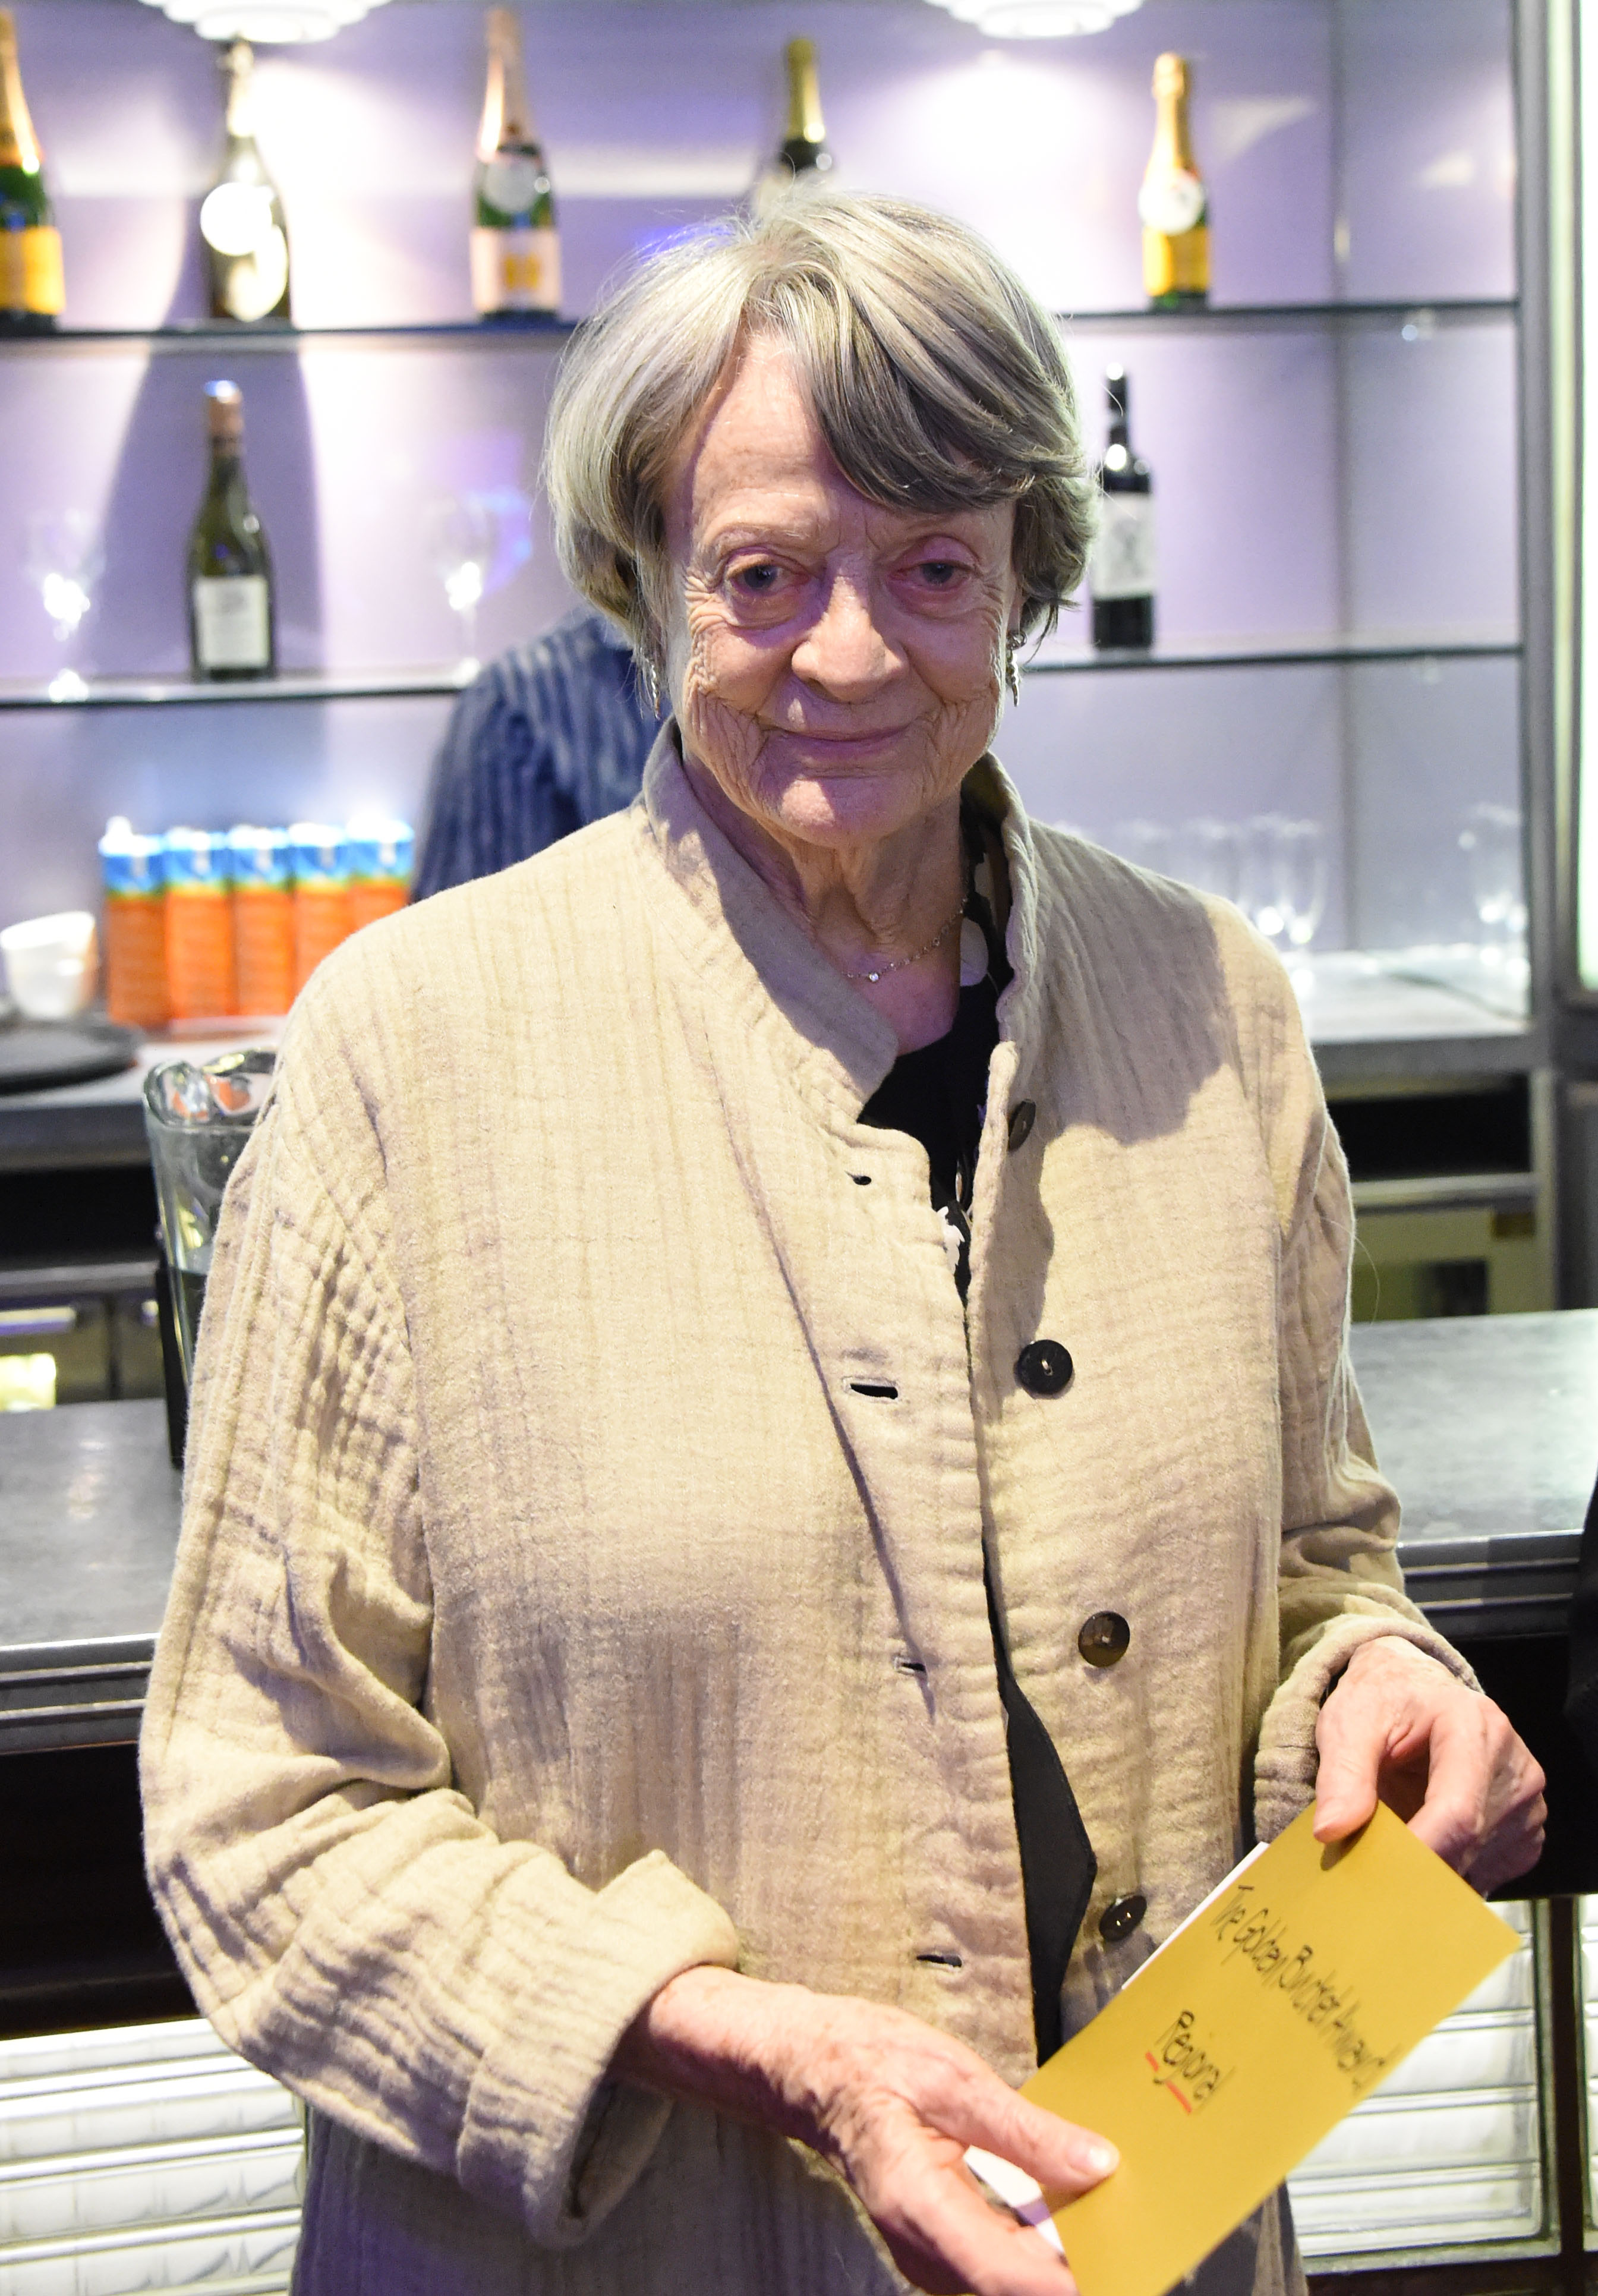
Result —
[{"label": "backlit pale purple wall behind the glass bottle shelves", "polygon": [[[71,324],[195,317],[211,53],[135,0],[21,0],[16,14]],[[572,310],[634,248],[739,193],[781,126],[794,30],[820,46],[838,179],[967,216],[1058,310],[1139,303],[1134,197],[1164,46],[1196,62],[1217,303],[1513,292],[1506,0],[1148,0],[1107,34],[1038,44],[985,41],[923,0],[549,0],[523,21]],[[262,145],[303,324],[466,315],[480,44],[475,5],[395,0],[324,46],[264,53]],[[1401,321],[1095,321],[1070,344],[1093,439],[1104,360],[1134,377],[1166,638],[1513,636],[1508,321],[1419,321],[1412,340]],[[200,388],[227,370],[280,567],[285,666],[452,654],[425,510],[464,487],[535,505],[549,351],[23,347],[0,354],[0,677],[60,661],[23,556],[30,512],[62,507],[106,528],[83,668],[181,670]],[[530,519],[533,556],[484,604],[482,652],[563,611],[537,505]],[[1157,808],[1316,813],[1355,872],[1327,937],[1412,939],[1453,914],[1453,813],[1515,794],[1513,666],[1465,670],[1476,687],[1451,668],[1442,680],[1474,696],[1451,714],[1437,687],[1417,687],[1414,709],[1366,703],[1410,668],[1040,677],[1006,755],[1040,813],[1107,836]],[[113,806],[152,827],[377,797],[413,808],[439,721],[436,703],[5,714],[0,921],[92,893],[92,833]],[[1403,804],[1398,785],[1426,801]],[[1426,900],[1410,900],[1421,884]]]}]

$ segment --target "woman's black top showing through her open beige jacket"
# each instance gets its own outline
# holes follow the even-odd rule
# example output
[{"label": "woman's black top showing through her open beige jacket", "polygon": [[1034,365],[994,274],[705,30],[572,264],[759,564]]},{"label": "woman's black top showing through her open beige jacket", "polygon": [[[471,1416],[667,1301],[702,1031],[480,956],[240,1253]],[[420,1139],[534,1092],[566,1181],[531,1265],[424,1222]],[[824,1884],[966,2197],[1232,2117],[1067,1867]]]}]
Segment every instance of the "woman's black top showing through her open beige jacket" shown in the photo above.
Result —
[{"label": "woman's black top showing through her open beige jacket", "polygon": [[[987,1070],[999,1042],[999,996],[1010,983],[1010,962],[987,898],[994,861],[985,854],[983,831],[969,808],[962,808],[962,833],[971,882],[967,918],[980,928],[987,944],[987,971],[967,985],[964,974],[971,967],[962,967],[953,1029],[934,1045],[898,1056],[861,1109],[861,1123],[879,1125],[884,1132],[909,1132],[925,1148],[932,1208],[948,1228],[951,1267],[964,1302],[971,1286],[976,1153],[987,1116]],[[983,1582],[1006,1715],[1010,1798],[1026,1899],[1033,2030],[1042,2064],[1063,2041],[1061,1986],[1088,1910],[1097,1860],[1054,1740],[1010,1671],[987,1554],[983,1554]]]}]

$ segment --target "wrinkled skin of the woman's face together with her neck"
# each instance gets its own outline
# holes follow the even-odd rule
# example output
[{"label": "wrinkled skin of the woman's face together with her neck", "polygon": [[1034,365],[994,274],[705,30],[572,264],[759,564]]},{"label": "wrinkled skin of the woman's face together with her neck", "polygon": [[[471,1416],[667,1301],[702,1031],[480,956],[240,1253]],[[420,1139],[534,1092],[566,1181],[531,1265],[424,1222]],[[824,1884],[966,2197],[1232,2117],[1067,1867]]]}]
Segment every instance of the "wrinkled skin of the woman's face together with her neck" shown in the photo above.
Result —
[{"label": "wrinkled skin of the woman's face together with her neck", "polygon": [[[960,783],[1003,707],[1015,510],[900,512],[843,478],[788,354],[732,363],[670,489],[666,682],[689,774],[843,974],[960,907]],[[957,934],[856,983],[900,1045],[944,1035]]]}]

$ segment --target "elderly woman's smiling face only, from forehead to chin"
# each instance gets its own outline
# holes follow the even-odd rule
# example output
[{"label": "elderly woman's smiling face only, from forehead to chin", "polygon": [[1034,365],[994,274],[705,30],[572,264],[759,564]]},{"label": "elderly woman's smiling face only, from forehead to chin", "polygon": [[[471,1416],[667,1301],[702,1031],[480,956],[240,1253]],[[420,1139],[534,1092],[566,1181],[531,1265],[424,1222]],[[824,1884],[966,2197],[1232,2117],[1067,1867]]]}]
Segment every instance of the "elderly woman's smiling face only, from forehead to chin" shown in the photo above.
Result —
[{"label": "elderly woman's smiling face only, from forehead to chin", "polygon": [[668,498],[684,753],[783,845],[870,843],[946,804],[999,723],[1013,526],[1010,503],[868,503],[788,351],[751,340]]}]

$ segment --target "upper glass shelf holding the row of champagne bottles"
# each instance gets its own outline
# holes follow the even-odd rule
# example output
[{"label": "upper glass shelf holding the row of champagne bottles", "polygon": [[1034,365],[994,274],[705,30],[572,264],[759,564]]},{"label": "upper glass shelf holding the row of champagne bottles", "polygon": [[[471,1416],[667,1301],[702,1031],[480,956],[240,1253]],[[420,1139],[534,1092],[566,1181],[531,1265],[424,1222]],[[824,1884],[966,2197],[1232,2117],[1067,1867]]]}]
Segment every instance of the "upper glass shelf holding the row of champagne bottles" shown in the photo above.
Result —
[{"label": "upper glass shelf holding the row of champagne bottles", "polygon": [[[1417,338],[1446,326],[1481,326],[1515,319],[1513,296],[1442,298],[1403,303],[1198,303],[1192,310],[1068,310],[1061,326],[1095,328],[1203,328],[1219,333],[1281,328],[1382,328],[1412,326]],[[223,326],[195,319],[179,326],[62,326],[41,335],[0,335],[5,351],[78,349],[94,344],[149,344],[154,351],[191,351],[227,344],[236,351],[298,351],[317,342],[416,342],[475,344],[487,349],[558,351],[576,333],[576,319],[418,319],[390,326]]]}]

